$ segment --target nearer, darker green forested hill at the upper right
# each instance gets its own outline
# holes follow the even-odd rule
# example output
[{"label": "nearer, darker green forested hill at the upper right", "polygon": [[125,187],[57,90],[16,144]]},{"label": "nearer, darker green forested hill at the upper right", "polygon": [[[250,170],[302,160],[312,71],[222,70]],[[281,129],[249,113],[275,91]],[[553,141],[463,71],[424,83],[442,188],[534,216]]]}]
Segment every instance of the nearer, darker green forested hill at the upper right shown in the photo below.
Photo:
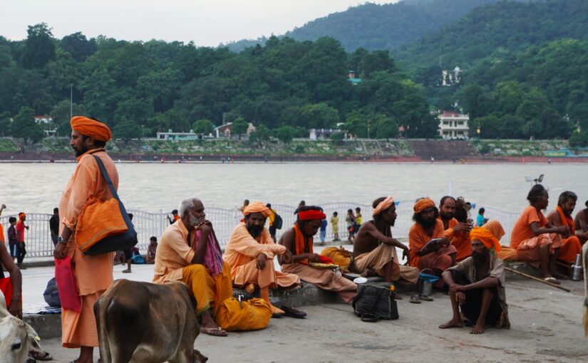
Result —
[{"label": "nearer, darker green forested hill at the upper right", "polygon": [[501,58],[561,38],[588,37],[588,1],[499,1],[481,6],[416,42],[393,52],[408,68],[441,61],[461,68],[480,58]]}]

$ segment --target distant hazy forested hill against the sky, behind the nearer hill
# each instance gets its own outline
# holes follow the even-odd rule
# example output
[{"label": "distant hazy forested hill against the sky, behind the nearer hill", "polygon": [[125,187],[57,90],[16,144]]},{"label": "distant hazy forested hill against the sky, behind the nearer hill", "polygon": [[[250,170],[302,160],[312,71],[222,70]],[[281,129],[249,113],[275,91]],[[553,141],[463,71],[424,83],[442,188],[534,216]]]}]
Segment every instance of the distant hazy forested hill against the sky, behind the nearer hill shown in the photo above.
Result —
[{"label": "distant hazy forested hill against the sky, behind the nearer hill", "polygon": [[[297,41],[314,41],[330,36],[346,51],[356,48],[392,50],[416,41],[425,34],[459,19],[477,6],[497,0],[404,0],[395,4],[371,4],[350,7],[346,11],[309,21],[286,33]],[[267,38],[228,43],[232,51],[242,51]]]}]

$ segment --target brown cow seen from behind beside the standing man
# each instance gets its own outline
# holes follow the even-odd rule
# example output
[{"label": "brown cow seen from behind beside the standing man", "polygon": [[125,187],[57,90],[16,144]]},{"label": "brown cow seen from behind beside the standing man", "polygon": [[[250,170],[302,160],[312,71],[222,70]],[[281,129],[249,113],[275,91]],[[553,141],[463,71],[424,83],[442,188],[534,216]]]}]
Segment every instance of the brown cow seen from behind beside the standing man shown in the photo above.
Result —
[{"label": "brown cow seen from behind beside the standing man", "polygon": [[94,304],[103,363],[192,363],[200,333],[187,286],[116,280]]}]

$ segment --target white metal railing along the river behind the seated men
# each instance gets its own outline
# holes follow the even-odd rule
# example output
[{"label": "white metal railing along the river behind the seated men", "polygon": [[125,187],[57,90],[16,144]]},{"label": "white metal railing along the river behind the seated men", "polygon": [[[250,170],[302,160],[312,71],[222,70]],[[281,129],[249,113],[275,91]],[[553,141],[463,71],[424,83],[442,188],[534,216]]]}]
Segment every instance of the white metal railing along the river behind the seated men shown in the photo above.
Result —
[{"label": "white metal railing along the river behind the seated men", "polygon": [[[361,214],[363,215],[363,221],[371,219],[371,206],[366,204],[335,202],[320,204],[320,206],[324,209],[326,221],[329,223],[326,227],[327,240],[332,240],[334,238],[331,228],[331,216],[334,211],[339,214],[339,238],[342,240],[349,236],[345,222],[345,216],[348,209],[353,209],[355,213],[356,207],[359,206],[359,208],[361,208]],[[478,204],[476,207],[480,208],[482,206],[483,205]],[[500,209],[491,206],[483,207],[486,210],[485,218],[497,219],[502,223],[502,227],[505,229],[506,233],[500,242],[503,245],[507,245],[510,241],[510,231],[517,220],[518,213],[501,211]],[[282,230],[277,231],[277,238],[279,238],[282,231],[285,231],[294,225],[294,221],[296,221],[296,215],[294,214],[296,207],[273,204],[272,209],[277,211],[284,221]],[[206,206],[205,212],[206,219],[211,221],[215,228],[215,233],[217,238],[219,238],[221,247],[226,246],[234,226],[236,226],[242,219],[241,212],[237,209],[220,209]],[[165,228],[170,224],[167,220],[167,216],[169,215],[167,213],[150,213],[138,210],[128,210],[128,213],[133,214],[133,224],[135,225],[139,240],[137,246],[141,251],[147,250],[149,238],[151,236],[155,236],[159,239]],[[396,201],[396,213],[398,214],[398,218],[396,219],[396,225],[392,228],[392,234],[395,238],[408,238],[408,231],[413,224],[413,201]],[[473,211],[473,213],[475,213],[475,211]],[[9,228],[9,217],[11,216],[0,217],[0,223],[4,226],[4,239],[6,243],[8,243],[6,235]],[[51,214],[26,214],[26,225],[29,226],[29,230],[25,231],[27,258],[51,257],[53,255],[53,243],[51,242],[51,233],[49,231],[49,219],[51,219]],[[318,238],[318,236],[316,238]]]}]

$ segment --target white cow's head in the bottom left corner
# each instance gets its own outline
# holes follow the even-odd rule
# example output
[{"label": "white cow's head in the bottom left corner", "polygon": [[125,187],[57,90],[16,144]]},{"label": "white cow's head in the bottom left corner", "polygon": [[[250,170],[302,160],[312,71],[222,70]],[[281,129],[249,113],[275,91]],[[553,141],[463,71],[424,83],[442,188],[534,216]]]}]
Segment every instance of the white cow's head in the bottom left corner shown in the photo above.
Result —
[{"label": "white cow's head in the bottom left corner", "polygon": [[0,361],[24,363],[29,357],[29,347],[41,349],[37,333],[31,325],[14,317],[6,309],[4,294],[0,291]]}]

